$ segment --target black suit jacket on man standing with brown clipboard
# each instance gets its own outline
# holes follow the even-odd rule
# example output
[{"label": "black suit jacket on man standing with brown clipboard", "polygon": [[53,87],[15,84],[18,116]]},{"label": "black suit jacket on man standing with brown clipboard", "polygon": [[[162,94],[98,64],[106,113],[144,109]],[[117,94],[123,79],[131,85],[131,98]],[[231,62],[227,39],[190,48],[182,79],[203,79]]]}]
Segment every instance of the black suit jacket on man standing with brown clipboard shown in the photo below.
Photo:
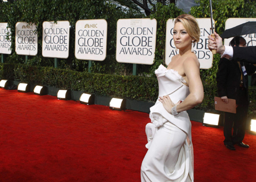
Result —
[{"label": "black suit jacket on man standing with brown clipboard", "polygon": [[[253,75],[256,67],[253,64],[241,62],[241,65],[245,65],[247,75],[246,80],[246,90],[248,88],[248,75]],[[241,70],[238,62],[230,61],[226,58],[221,58],[218,64],[218,72],[216,75],[218,97],[227,96],[237,100],[238,90],[240,89],[241,80]],[[247,92],[246,92],[247,94]],[[248,98],[248,96],[247,96]]]}]

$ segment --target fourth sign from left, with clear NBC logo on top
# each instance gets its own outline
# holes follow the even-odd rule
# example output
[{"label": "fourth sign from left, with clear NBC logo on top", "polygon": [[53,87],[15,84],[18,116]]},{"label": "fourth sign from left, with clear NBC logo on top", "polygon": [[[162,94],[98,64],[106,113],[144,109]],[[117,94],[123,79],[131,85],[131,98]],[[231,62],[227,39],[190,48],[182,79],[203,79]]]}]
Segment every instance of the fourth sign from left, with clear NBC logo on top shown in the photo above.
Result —
[{"label": "fourth sign from left, with clear NBC logo on top", "polygon": [[103,61],[106,58],[108,23],[105,19],[76,22],[75,56],[81,60]]}]

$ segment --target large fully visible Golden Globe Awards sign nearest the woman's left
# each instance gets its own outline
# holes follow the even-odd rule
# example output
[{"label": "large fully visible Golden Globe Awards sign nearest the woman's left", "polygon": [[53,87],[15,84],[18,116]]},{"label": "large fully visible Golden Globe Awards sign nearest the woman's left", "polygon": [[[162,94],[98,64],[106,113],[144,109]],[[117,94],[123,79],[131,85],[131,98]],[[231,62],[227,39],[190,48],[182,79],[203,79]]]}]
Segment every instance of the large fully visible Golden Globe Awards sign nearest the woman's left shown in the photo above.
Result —
[{"label": "large fully visible Golden Globe Awards sign nearest the woman's left", "polygon": [[119,63],[153,64],[156,43],[155,19],[119,19],[117,52]]}]

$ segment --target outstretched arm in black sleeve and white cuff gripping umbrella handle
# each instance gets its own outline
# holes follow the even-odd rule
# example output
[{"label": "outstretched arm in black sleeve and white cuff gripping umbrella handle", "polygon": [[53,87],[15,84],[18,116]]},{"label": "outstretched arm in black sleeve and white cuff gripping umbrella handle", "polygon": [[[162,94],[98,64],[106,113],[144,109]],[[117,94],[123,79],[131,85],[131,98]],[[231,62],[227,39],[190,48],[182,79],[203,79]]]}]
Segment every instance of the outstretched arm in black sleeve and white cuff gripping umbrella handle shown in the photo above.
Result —
[{"label": "outstretched arm in black sleeve and white cuff gripping umbrella handle", "polygon": [[223,46],[222,39],[220,35],[214,32],[216,36],[216,40],[212,38],[212,36],[208,36],[208,48],[210,51],[215,49],[217,53],[220,53],[221,57],[226,57],[227,59],[233,61],[245,61],[247,63],[256,64],[256,46],[250,47],[230,47]]}]

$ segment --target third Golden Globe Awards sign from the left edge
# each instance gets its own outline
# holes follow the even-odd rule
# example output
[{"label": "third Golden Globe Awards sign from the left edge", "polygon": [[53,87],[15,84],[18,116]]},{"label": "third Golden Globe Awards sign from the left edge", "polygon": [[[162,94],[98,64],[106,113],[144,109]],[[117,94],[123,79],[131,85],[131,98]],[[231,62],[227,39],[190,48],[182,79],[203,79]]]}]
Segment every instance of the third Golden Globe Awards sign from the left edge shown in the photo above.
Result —
[{"label": "third Golden Globe Awards sign from the left edge", "polygon": [[69,22],[43,22],[44,57],[68,58],[69,53]]}]

